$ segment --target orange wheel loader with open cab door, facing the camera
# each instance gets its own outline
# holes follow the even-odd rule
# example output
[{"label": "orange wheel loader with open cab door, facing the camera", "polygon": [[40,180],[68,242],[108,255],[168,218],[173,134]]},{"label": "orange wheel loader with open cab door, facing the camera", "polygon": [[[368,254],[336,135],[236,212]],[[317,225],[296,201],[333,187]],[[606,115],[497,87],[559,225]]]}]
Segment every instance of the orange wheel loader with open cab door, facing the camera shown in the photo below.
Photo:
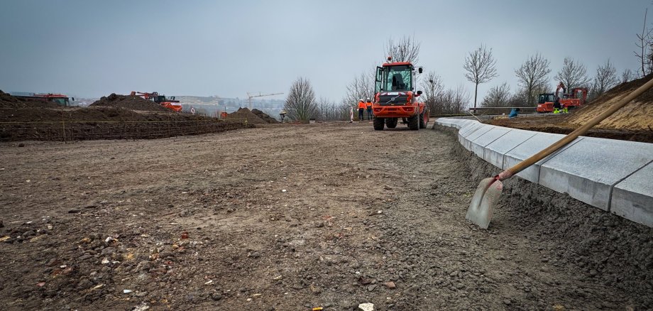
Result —
[{"label": "orange wheel loader with open cab door, facing the camera", "polygon": [[[417,72],[422,73],[422,67]],[[426,129],[429,111],[424,102],[417,100],[422,91],[414,92],[416,82],[415,66],[411,62],[392,62],[388,58],[388,62],[376,67],[372,104],[375,130],[382,131],[385,126],[395,129],[399,119],[412,131]]]}]

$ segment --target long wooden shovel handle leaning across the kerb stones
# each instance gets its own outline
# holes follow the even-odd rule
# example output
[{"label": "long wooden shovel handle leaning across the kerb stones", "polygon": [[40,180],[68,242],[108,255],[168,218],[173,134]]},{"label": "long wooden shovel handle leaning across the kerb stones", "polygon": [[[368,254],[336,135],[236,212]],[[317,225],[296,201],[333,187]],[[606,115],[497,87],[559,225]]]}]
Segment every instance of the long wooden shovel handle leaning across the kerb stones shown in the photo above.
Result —
[{"label": "long wooden shovel handle leaning across the kerb stones", "polygon": [[559,148],[562,148],[563,146],[565,146],[567,143],[571,143],[571,141],[574,141],[574,139],[578,138],[578,136],[581,136],[584,133],[587,133],[587,131],[589,131],[589,129],[591,129],[593,126],[595,126],[596,124],[599,124],[600,121],[603,121],[608,116],[611,116],[612,114],[614,114],[615,111],[621,109],[626,104],[628,104],[630,101],[632,101],[632,99],[635,99],[635,97],[640,96],[642,93],[646,92],[651,87],[653,87],[653,79],[649,80],[649,82],[646,82],[646,84],[642,85],[641,87],[635,89],[635,91],[632,91],[632,93],[628,94],[627,97],[624,97],[623,99],[621,99],[617,104],[613,104],[612,106],[610,106],[610,108],[603,111],[602,114],[599,114],[598,116],[595,116],[593,119],[588,121],[583,126],[579,127],[578,129],[575,129],[573,132],[567,134],[567,136],[564,136],[559,141],[556,141],[553,145],[547,147],[543,151],[539,151],[538,153],[535,153],[530,158],[527,158],[526,160],[523,160],[522,162],[517,163],[517,165],[513,166],[512,168],[508,168],[507,170],[504,170],[502,173],[497,175],[495,178],[497,180],[505,180],[506,178],[510,178],[510,176],[512,176],[512,175],[520,173],[522,170],[524,170],[525,168],[528,168],[530,165],[533,165],[537,161],[542,160],[543,158],[546,158],[547,155],[550,155],[550,154],[554,153]]}]

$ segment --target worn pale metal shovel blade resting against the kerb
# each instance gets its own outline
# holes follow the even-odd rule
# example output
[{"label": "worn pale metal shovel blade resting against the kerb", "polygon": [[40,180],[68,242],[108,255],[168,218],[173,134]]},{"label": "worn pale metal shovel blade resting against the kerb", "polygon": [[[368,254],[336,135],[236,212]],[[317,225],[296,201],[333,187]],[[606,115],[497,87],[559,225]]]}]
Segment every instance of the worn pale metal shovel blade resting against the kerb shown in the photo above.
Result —
[{"label": "worn pale metal shovel blade resting against the kerb", "polygon": [[465,219],[478,225],[478,227],[488,229],[490,219],[492,219],[492,212],[499,202],[502,190],[503,183],[496,178],[481,180],[471,199]]}]

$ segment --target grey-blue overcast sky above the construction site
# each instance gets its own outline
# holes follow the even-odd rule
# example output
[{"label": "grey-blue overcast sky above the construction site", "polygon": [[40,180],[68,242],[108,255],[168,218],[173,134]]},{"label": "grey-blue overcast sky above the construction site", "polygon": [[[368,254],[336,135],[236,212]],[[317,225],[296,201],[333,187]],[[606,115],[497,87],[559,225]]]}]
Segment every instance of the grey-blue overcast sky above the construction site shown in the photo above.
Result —
[{"label": "grey-blue overcast sky above the construction site", "polygon": [[499,74],[481,84],[481,94],[503,82],[517,89],[515,68],[538,52],[551,62],[552,87],[566,56],[592,76],[608,58],[618,72],[635,70],[635,34],[652,4],[4,0],[1,7],[5,92],[243,98],[287,94],[297,77],[307,77],[318,97],[340,102],[354,76],[383,62],[390,37],[414,36],[422,44],[417,65],[472,95],[463,60],[481,43],[493,48]]}]

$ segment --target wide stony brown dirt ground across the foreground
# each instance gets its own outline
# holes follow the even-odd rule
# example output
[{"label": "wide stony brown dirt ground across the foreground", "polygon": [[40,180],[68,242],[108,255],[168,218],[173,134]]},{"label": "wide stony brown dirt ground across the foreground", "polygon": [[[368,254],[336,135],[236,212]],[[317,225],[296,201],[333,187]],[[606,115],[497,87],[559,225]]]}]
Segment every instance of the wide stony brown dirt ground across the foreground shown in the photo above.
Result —
[{"label": "wide stony brown dirt ground across the foreground", "polygon": [[516,211],[542,202],[517,191],[478,229],[474,170],[444,131],[24,145],[0,143],[4,310],[653,308],[651,229],[592,227],[574,204],[534,222]]}]

